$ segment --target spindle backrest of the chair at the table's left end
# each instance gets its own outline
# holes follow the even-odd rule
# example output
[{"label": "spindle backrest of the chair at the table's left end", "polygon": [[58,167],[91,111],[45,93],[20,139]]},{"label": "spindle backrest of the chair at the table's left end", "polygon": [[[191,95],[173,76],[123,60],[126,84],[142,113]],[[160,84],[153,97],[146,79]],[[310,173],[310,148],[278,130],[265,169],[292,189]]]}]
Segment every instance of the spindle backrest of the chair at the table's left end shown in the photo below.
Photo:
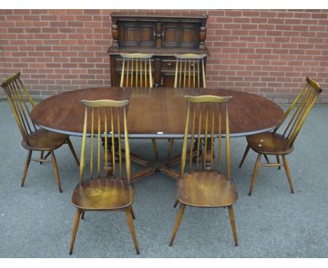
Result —
[{"label": "spindle backrest of the chair at the table's left end", "polygon": [[15,120],[20,128],[23,140],[29,145],[29,135],[36,131],[36,126],[31,119],[31,111],[34,102],[27,92],[22,81],[20,81],[20,72],[9,77],[1,84],[6,93],[6,98],[11,105],[11,110]]}]

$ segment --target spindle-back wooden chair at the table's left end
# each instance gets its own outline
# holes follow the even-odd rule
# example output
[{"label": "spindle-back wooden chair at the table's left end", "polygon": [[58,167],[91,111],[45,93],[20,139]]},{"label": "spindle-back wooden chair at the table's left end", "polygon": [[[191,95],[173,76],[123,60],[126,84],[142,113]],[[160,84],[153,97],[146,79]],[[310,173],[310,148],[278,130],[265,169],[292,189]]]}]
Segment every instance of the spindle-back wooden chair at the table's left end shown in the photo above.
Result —
[{"label": "spindle-back wooden chair at the table's left end", "polygon": [[[67,143],[67,145],[69,145],[69,149],[71,149],[71,153],[79,165],[78,157],[76,156],[74,147],[71,144],[71,140],[69,140],[69,135],[54,133],[42,128],[36,128],[36,125],[31,119],[31,111],[34,107],[34,101],[20,80],[20,72],[9,77],[4,83],[1,84],[1,87],[4,88],[6,98],[11,106],[11,111],[13,112],[18,128],[20,129],[20,133],[22,134],[22,147],[29,151],[27,153],[21,186],[24,186],[30,161],[36,161],[39,163],[50,162],[53,163],[53,171],[55,173],[58,190],[59,192],[62,192],[60,175],[58,173],[57,161],[54,152],[55,149],[61,147],[64,143]],[[41,152],[40,158],[32,158],[33,151]],[[48,152],[46,156],[43,156],[44,152]],[[47,159],[49,155],[51,155],[51,160]]]}]

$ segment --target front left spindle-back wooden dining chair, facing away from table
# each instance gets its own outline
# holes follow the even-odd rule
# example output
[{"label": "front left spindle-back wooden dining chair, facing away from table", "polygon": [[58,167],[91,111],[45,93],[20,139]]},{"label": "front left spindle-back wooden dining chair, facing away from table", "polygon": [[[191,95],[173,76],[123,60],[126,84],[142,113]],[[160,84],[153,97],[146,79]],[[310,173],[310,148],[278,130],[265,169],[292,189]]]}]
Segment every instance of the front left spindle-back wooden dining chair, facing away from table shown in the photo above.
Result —
[{"label": "front left spindle-back wooden dining chair, facing away from table", "polygon": [[[132,219],[135,214],[132,203],[135,201],[135,189],[131,183],[130,147],[125,107],[128,100],[82,100],[85,106],[83,138],[81,146],[80,180],[76,185],[71,202],[76,207],[71,246],[69,254],[73,253],[74,242],[78,230],[80,217],[83,219],[86,211],[125,211],[132,235],[135,250],[139,254],[139,246],[135,235]],[[87,137],[90,137],[90,173],[85,179]],[[97,142],[95,144],[95,138]],[[101,138],[104,138],[104,163],[108,163],[108,154],[112,153],[113,170],[108,170],[107,164],[102,171],[101,166]],[[117,139],[117,142],[116,142]],[[125,168],[122,160],[122,140],[125,147]],[[111,152],[108,152],[108,143],[111,142]],[[94,145],[95,144],[95,145]],[[118,147],[117,150],[115,147]],[[94,159],[94,154],[97,157]],[[115,152],[118,152],[116,159]],[[94,175],[94,166],[97,174]]]}]

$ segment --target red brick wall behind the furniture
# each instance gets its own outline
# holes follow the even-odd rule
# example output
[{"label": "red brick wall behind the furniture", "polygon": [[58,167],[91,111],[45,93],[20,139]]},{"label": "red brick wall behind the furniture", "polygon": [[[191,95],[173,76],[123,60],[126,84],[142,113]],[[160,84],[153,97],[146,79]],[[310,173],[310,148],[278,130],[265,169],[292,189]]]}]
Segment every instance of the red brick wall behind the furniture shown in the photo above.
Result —
[{"label": "red brick wall behind the furniture", "polygon": [[[111,10],[0,10],[0,79],[34,98],[110,83]],[[158,12],[158,11],[157,11]],[[207,86],[290,102],[310,76],[328,103],[328,10],[208,10]]]}]

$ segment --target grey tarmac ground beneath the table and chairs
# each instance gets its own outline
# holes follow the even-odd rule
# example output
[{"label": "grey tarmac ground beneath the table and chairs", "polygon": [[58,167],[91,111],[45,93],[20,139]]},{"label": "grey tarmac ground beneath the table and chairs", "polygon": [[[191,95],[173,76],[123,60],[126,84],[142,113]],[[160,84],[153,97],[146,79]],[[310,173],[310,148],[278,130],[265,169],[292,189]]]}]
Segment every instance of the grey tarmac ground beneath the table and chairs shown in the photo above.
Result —
[{"label": "grey tarmac ground beneath the table and chairs", "polygon": [[[71,194],[78,166],[64,145],[55,151],[63,192],[50,163],[32,162],[20,187],[27,151],[11,109],[0,102],[0,257],[70,257],[75,208]],[[156,173],[135,182],[134,221],[140,255],[135,254],[125,213],[86,213],[71,257],[328,257],[328,107],[314,107],[288,157],[295,194],[285,171],[260,168],[247,196],[256,160],[250,152],[238,168],[245,138],[231,140],[232,177],[238,189],[233,243],[228,210],[187,207],[172,247],[178,208],[175,180]],[[79,155],[81,138],[71,138]],[[166,156],[167,140],[158,141]],[[149,140],[132,140],[132,152],[151,158]],[[175,153],[181,150],[177,142]]]}]

